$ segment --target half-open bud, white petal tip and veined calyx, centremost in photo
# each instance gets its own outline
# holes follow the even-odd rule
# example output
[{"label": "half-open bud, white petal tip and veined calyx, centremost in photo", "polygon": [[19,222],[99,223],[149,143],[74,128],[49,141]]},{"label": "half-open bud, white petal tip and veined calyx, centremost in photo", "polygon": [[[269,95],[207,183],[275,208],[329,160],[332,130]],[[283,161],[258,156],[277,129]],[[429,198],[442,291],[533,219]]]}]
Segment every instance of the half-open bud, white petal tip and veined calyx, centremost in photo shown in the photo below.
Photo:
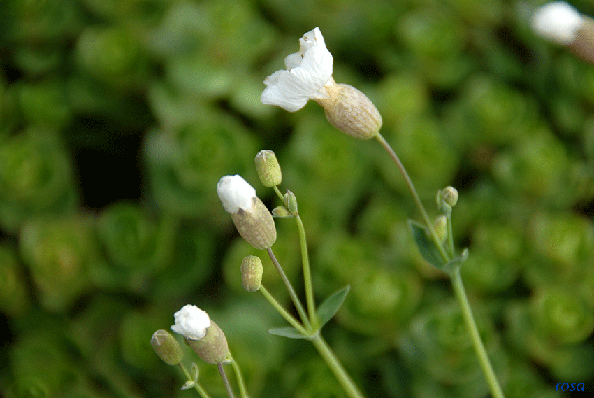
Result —
[{"label": "half-open bud, white petal tip and veined calyx, centremost in photo", "polygon": [[276,241],[273,215],[256,197],[256,190],[241,176],[224,176],[217,185],[217,194],[225,210],[231,214],[239,234],[256,249],[268,249]]}]

